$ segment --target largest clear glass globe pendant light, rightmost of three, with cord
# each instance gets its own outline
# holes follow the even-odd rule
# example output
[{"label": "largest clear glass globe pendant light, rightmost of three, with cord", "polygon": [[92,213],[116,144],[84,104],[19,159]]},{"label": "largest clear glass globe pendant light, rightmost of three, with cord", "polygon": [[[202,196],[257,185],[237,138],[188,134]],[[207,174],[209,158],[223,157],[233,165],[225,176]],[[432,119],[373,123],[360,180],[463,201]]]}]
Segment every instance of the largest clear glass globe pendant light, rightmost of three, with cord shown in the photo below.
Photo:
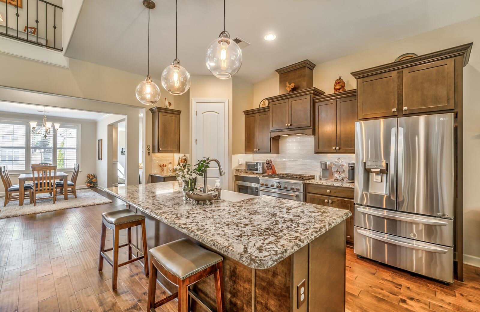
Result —
[{"label": "largest clear glass globe pendant light, rightmost of three, with cord", "polygon": [[219,79],[228,79],[239,71],[241,49],[225,30],[225,0],[223,0],[223,32],[207,48],[205,63],[208,70]]}]

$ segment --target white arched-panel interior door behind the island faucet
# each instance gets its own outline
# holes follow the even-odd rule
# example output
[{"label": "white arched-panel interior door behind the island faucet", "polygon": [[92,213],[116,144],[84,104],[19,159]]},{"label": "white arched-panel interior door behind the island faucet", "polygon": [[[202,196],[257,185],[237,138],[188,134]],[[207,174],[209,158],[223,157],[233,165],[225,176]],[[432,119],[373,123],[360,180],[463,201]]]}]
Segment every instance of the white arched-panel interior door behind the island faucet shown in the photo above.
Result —
[{"label": "white arched-panel interior door behind the island faucet", "polygon": [[[222,168],[225,167],[225,135],[227,128],[225,125],[226,104],[225,103],[196,103],[195,131],[192,135],[195,152],[193,153],[196,163],[197,160],[204,157],[216,158]],[[207,169],[207,178],[209,187],[215,185],[215,180],[220,179],[220,186],[224,188],[224,176],[220,176],[216,162],[210,162],[210,168]],[[203,185],[204,179],[201,178],[198,185]]]}]

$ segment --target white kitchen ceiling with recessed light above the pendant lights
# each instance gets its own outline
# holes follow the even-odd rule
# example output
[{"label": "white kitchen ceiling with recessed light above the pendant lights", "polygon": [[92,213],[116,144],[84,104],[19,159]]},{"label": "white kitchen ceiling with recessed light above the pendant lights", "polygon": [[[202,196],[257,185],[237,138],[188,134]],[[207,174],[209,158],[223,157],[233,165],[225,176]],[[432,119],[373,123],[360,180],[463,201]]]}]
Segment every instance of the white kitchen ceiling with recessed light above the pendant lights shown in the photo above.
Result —
[{"label": "white kitchen ceiling with recessed light above the pendant lights", "polygon": [[[151,10],[150,74],[175,58],[175,1]],[[223,30],[223,1],[179,0],[178,58],[209,75],[205,50]],[[275,69],[315,64],[480,15],[479,0],[228,0],[226,29],[251,46],[237,76],[258,82]],[[84,0],[65,55],[146,75],[147,9],[142,0]],[[276,34],[267,42],[264,35]],[[399,51],[399,54],[411,51]]]}]

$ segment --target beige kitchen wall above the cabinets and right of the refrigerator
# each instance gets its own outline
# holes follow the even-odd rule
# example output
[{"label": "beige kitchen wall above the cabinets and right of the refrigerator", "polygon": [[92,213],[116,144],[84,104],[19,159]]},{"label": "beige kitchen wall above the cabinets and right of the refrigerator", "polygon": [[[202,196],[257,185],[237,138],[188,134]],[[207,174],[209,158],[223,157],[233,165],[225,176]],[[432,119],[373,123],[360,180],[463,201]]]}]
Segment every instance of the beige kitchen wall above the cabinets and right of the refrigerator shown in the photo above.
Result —
[{"label": "beige kitchen wall above the cabinets and right of the refrigerator", "polygon": [[[418,55],[473,42],[470,61],[464,68],[464,236],[465,261],[480,266],[480,196],[477,184],[472,182],[480,175],[477,164],[480,155],[480,17],[444,28],[372,48],[343,58],[317,64],[313,70],[313,86],[333,93],[333,83],[338,76],[346,82],[346,89],[356,88],[350,72],[389,63],[403,53]],[[308,56],[307,56],[308,57]],[[288,65],[288,64],[285,64]],[[425,86],[428,88],[428,86]],[[253,86],[254,103],[267,96],[278,94],[278,75]]]}]

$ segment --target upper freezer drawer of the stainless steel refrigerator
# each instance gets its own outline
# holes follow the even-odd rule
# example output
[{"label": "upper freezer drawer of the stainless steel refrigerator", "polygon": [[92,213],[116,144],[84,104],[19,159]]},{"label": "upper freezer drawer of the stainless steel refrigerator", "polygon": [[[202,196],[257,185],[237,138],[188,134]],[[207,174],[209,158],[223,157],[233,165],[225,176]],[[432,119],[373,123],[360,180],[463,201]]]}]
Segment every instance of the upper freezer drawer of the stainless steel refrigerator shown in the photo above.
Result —
[{"label": "upper freezer drawer of the stainless steel refrigerator", "polygon": [[417,241],[453,246],[453,220],[355,205],[355,226]]}]

